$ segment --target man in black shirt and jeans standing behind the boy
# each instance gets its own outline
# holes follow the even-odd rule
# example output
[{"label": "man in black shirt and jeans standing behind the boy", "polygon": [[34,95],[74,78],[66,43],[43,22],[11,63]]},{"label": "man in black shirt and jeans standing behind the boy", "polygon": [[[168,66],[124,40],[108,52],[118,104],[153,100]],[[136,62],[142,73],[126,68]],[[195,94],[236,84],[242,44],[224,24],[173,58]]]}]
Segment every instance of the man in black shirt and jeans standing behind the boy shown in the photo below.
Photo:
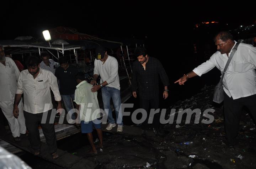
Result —
[{"label": "man in black shirt and jeans standing behind the boy", "polygon": [[[75,99],[77,85],[75,75],[78,73],[78,68],[68,64],[68,60],[64,56],[59,58],[59,64],[60,67],[56,69],[55,76],[59,80],[59,89],[64,106],[66,111],[69,112],[73,108],[73,100]],[[76,119],[75,113],[72,114],[71,119]]]}]

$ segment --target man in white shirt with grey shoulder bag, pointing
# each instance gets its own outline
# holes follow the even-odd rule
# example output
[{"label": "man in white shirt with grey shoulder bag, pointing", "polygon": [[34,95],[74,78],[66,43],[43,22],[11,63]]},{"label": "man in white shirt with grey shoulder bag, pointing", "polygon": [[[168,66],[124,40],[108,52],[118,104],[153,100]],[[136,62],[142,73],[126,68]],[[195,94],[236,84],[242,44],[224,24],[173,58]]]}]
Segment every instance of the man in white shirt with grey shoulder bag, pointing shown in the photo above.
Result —
[{"label": "man in white shirt with grey shoulder bag, pointing", "polygon": [[[189,78],[201,76],[215,66],[224,71],[228,57],[235,44],[229,32],[220,32],[214,38],[217,52],[208,61],[194,68],[192,72],[184,74],[175,81],[183,85]],[[249,44],[240,43],[229,66],[224,74],[223,89],[225,132],[228,144],[233,146],[239,131],[239,120],[242,107],[249,108],[252,117],[256,120],[256,48]]]}]

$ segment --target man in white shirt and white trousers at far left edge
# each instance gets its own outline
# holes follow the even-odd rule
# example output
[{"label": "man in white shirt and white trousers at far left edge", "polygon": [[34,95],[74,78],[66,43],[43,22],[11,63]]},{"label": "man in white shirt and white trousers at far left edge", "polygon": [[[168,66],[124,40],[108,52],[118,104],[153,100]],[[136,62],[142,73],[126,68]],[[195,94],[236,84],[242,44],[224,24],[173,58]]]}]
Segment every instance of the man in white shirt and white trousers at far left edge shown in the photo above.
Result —
[{"label": "man in white shirt and white trousers at far left edge", "polygon": [[11,58],[5,57],[3,47],[0,46],[0,108],[8,120],[15,141],[20,141],[20,134],[26,134],[22,101],[18,104],[18,108],[21,110],[20,116],[15,118],[12,114],[19,74],[20,71],[15,62]]}]

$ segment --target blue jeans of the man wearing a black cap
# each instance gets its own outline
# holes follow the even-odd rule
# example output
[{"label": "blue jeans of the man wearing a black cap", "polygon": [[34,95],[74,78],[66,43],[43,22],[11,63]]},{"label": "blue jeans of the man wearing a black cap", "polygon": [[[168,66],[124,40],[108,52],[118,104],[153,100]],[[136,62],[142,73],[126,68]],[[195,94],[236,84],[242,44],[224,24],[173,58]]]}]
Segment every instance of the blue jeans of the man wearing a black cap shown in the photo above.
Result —
[{"label": "blue jeans of the man wearing a black cap", "polygon": [[[121,107],[120,90],[118,90],[116,88],[104,86],[101,89],[101,93],[102,93],[104,109],[108,109],[108,123],[112,123],[112,124],[115,123],[115,120],[112,117],[112,110],[110,109],[110,100],[112,98],[114,110],[116,112],[116,123],[118,125],[123,125],[123,115],[122,115],[122,112],[119,112],[120,107]],[[119,116],[119,118],[118,118],[118,116]]]}]

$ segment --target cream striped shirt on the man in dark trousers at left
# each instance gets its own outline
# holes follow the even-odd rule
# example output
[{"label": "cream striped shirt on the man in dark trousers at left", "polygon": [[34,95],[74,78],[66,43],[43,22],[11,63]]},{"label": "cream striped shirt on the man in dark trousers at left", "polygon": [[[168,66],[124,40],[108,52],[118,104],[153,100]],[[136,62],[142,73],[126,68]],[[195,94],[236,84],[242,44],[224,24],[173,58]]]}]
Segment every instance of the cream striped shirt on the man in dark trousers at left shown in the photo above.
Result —
[{"label": "cream striped shirt on the man in dark trousers at left", "polygon": [[34,79],[28,70],[20,73],[16,94],[24,93],[24,111],[37,114],[52,109],[52,89],[56,101],[60,101],[57,78],[50,71],[39,69]]}]

